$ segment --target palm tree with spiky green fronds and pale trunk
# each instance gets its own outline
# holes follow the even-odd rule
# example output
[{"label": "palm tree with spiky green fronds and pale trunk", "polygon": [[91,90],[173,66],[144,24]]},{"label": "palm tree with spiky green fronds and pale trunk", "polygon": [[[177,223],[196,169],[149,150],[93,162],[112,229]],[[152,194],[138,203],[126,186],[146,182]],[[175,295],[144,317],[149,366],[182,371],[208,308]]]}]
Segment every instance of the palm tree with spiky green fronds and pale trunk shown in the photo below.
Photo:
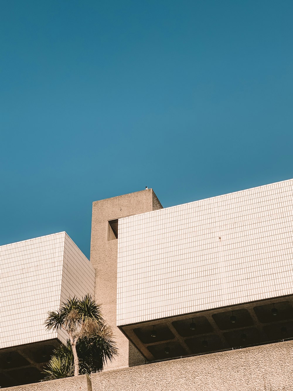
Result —
[{"label": "palm tree with spiky green fronds and pale trunk", "polygon": [[72,376],[72,368],[74,376],[100,371],[117,354],[111,328],[89,294],[82,300],[68,299],[59,310],[48,312],[45,325],[47,330],[63,329],[69,336],[67,344],[55,350],[46,370],[48,377],[54,370],[54,378],[63,377],[63,373]]}]

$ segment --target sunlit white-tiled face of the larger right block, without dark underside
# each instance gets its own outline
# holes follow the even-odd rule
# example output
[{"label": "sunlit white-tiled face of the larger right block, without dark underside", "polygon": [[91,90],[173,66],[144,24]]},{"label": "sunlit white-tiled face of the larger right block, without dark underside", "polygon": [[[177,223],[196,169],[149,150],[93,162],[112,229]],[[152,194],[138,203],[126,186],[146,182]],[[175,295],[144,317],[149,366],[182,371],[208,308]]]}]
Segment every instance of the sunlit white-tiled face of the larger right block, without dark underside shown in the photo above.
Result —
[{"label": "sunlit white-tiled face of the larger right block, without dark underside", "polygon": [[293,180],[119,219],[117,325],[293,294]]}]

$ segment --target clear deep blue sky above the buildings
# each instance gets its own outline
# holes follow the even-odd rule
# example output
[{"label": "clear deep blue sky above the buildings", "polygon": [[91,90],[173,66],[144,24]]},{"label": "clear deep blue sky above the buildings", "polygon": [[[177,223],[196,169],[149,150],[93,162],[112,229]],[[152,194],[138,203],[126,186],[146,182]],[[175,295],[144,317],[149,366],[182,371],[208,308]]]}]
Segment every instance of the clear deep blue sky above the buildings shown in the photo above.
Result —
[{"label": "clear deep blue sky above the buildings", "polygon": [[292,0],[0,6],[0,245],[293,177]]}]

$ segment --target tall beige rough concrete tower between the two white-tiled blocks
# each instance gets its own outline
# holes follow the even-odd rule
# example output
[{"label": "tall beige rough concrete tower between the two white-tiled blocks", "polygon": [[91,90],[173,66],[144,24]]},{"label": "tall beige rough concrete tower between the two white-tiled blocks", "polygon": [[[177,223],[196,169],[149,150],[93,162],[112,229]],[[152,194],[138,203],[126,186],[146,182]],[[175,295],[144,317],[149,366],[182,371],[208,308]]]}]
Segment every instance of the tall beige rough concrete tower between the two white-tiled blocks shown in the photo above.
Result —
[{"label": "tall beige rough concrete tower between the two white-tiled blocks", "polygon": [[96,269],[95,299],[102,304],[102,313],[113,329],[118,347],[118,357],[107,369],[136,365],[141,360],[140,353],[116,327],[118,239],[114,233],[115,220],[161,208],[152,189],[93,202],[90,261]]}]

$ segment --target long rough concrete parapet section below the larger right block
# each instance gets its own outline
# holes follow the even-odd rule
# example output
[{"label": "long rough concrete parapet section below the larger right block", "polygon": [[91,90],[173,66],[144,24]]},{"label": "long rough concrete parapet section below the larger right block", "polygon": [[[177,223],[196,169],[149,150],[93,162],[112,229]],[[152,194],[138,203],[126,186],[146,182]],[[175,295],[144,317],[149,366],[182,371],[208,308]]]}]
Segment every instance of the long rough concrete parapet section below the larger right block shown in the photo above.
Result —
[{"label": "long rough concrete parapet section below the larger right block", "polygon": [[91,375],[93,391],[292,391],[293,341]]}]

